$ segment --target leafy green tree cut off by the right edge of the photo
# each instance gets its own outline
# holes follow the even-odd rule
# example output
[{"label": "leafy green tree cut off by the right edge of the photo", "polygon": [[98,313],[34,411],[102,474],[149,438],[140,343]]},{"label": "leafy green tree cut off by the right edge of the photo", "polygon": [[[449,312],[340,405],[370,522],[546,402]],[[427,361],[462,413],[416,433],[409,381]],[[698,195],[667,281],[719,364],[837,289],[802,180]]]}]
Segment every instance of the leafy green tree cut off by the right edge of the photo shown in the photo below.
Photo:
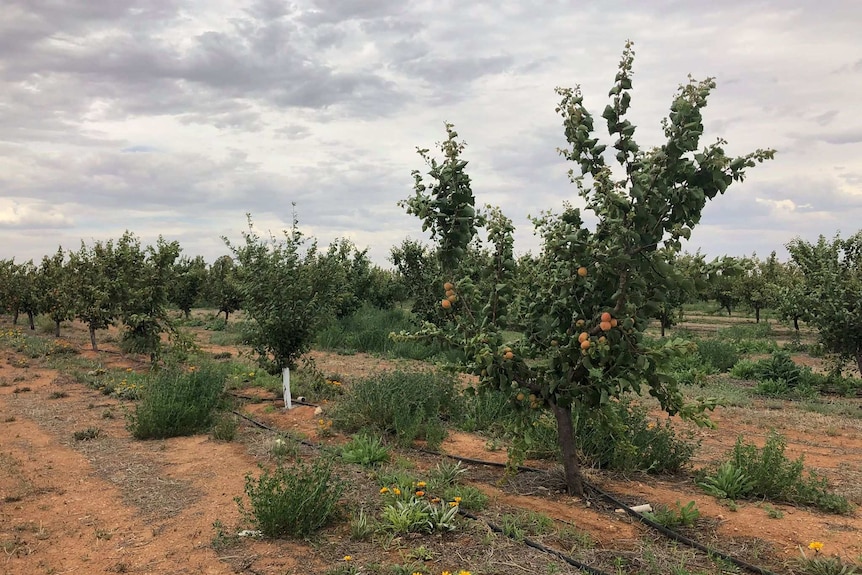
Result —
[{"label": "leafy green tree cut off by the right edge of the photo", "polygon": [[862,372],[862,231],[814,244],[796,238],[787,251],[801,271],[806,320],[842,365],[853,360]]}]

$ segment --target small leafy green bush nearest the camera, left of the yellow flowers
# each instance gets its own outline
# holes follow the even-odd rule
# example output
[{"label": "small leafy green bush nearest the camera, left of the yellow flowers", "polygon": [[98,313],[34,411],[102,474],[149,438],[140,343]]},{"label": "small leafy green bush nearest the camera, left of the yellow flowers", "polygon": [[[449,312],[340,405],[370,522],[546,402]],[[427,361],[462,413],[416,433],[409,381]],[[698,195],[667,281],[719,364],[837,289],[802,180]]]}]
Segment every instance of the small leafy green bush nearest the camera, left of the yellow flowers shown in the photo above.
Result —
[{"label": "small leafy green bush nearest the camera, left of the yellow flowers", "polygon": [[245,476],[251,511],[246,511],[241,498],[235,501],[267,537],[307,537],[333,517],[345,485],[332,476],[332,468],[325,462],[261,470],[258,478]]}]

